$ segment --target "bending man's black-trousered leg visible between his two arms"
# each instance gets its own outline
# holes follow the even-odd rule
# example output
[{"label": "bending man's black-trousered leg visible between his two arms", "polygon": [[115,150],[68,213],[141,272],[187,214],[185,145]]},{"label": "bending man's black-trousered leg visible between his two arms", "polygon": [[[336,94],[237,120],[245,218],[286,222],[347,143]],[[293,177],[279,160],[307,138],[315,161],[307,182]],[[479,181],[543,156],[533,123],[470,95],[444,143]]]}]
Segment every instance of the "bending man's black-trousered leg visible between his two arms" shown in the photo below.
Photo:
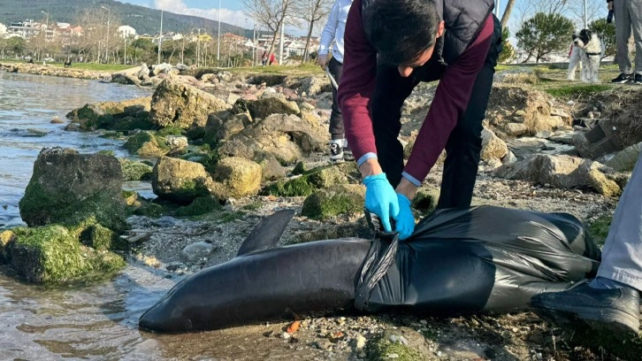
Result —
[{"label": "bending man's black-trousered leg visible between his two arms", "polygon": [[415,77],[403,78],[396,66],[378,65],[377,80],[370,102],[372,130],[378,163],[393,188],[401,181],[403,146],[397,139],[401,131],[401,106],[417,85]]}]

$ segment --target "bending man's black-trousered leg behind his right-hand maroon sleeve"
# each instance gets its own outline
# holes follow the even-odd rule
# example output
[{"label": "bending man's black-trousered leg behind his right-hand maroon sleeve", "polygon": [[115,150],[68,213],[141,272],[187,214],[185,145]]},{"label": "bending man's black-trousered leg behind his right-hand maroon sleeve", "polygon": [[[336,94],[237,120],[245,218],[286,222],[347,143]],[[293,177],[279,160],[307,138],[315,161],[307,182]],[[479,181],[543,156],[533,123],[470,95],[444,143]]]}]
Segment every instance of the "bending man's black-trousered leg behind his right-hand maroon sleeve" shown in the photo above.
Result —
[{"label": "bending man's black-trousered leg behind his right-hand maroon sleeve", "polygon": [[501,26],[495,20],[491,48],[473,85],[468,106],[446,143],[446,162],[437,208],[470,207],[481,152],[482,120],[501,53]]}]

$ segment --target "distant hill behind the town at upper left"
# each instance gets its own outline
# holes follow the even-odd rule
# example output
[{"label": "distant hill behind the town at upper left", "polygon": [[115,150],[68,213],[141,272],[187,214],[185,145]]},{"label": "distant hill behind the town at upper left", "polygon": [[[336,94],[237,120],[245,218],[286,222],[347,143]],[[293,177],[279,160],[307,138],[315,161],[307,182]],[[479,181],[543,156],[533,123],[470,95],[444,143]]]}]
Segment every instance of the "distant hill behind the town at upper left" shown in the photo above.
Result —
[{"label": "distant hill behind the town at upper left", "polygon": [[[44,21],[46,15],[42,12],[48,12],[50,22],[78,24],[80,12],[92,7],[97,11],[106,12],[101,6],[111,9],[111,19],[119,19],[122,25],[134,27],[138,34],[158,33],[160,10],[113,0],[0,0],[0,23],[8,27],[11,22],[25,19]],[[163,13],[164,32],[187,33],[193,27],[202,27],[208,34],[214,35],[218,31],[218,21],[172,12]],[[221,34],[233,33],[251,37],[251,32],[252,30],[221,22]]]}]

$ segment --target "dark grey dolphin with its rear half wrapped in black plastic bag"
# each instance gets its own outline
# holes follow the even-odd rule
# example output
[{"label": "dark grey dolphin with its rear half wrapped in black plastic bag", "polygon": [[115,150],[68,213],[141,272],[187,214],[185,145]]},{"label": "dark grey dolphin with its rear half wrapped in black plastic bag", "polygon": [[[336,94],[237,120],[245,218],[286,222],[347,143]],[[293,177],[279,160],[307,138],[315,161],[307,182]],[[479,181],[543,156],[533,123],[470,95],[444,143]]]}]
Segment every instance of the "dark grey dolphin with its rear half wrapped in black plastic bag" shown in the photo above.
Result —
[{"label": "dark grey dolphin with its rear half wrapped in black plastic bag", "polygon": [[[176,333],[353,310],[373,241],[270,248],[293,215],[279,211],[264,219],[237,257],[182,280],[139,325]],[[531,296],[568,288],[594,273],[599,258],[599,248],[568,214],[492,206],[436,211],[399,244],[365,311],[523,310]]]}]

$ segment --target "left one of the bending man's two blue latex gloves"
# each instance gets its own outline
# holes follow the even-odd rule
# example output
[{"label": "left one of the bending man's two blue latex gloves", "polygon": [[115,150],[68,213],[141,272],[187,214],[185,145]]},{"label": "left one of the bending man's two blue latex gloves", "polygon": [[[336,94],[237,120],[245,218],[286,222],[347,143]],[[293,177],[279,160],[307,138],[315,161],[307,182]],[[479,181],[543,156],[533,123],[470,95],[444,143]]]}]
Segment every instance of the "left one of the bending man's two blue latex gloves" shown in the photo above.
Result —
[{"label": "left one of the bending man's two blue latex gloves", "polygon": [[363,178],[365,185],[365,209],[375,213],[386,232],[392,232],[390,218],[399,215],[399,201],[393,186],[386,178],[386,173],[378,173]]}]

